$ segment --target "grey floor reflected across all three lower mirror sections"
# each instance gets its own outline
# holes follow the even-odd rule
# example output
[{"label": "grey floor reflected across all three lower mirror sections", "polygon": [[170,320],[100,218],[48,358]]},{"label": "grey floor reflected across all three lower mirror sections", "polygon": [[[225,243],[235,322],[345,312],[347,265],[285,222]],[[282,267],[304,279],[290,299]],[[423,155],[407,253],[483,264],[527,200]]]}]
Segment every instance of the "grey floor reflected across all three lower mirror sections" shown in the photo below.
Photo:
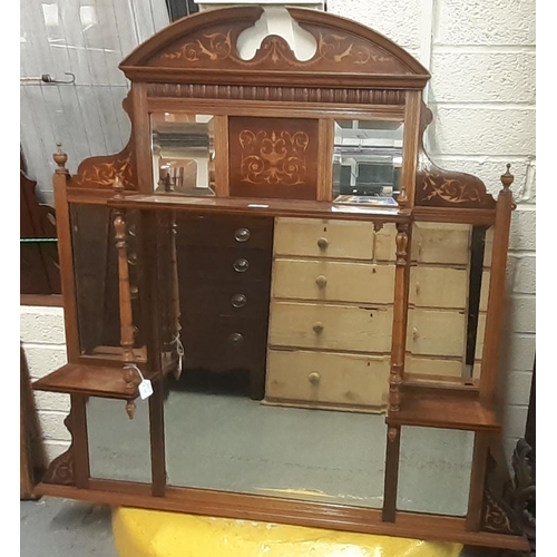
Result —
[{"label": "grey floor reflected across all three lower mirror sections", "polygon": [[[143,427],[130,436],[121,401],[97,401],[89,414],[91,475],[149,481],[147,403],[138,401]],[[165,429],[172,486],[382,506],[384,416],[172,390]],[[403,428],[398,508],[466,515],[472,441],[469,432]]]}]

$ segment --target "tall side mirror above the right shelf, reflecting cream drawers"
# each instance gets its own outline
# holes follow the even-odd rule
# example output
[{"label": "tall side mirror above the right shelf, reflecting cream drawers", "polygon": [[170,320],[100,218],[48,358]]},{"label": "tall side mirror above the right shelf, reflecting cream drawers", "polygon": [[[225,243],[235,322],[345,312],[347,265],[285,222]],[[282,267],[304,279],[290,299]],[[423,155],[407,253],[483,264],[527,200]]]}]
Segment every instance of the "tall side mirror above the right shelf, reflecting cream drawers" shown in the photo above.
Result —
[{"label": "tall side mirror above the right shelf, reflecting cream drawers", "polygon": [[491,228],[414,224],[407,377],[470,384],[479,379],[491,250]]}]

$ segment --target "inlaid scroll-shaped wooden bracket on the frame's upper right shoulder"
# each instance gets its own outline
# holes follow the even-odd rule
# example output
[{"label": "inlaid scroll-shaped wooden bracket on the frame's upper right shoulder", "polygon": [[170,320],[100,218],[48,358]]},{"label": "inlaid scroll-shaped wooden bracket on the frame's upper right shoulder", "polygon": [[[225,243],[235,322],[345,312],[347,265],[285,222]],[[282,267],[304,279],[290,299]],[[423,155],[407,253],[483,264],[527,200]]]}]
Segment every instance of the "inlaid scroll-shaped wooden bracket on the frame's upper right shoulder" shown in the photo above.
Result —
[{"label": "inlaid scroll-shaped wooden bracket on the frame's upper right shoulder", "polygon": [[483,182],[471,174],[443,170],[428,157],[423,134],[432,121],[431,110],[422,105],[420,118],[420,150],[416,175],[416,205],[456,208],[495,208],[494,197]]}]

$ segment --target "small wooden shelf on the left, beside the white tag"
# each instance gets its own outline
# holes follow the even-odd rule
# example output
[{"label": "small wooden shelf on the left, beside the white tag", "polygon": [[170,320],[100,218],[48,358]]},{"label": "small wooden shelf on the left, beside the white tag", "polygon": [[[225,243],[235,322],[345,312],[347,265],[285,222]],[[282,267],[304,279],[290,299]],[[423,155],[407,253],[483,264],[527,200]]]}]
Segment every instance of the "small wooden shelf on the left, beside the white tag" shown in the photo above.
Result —
[{"label": "small wooden shelf on the left, beside the white tag", "polygon": [[137,388],[126,387],[121,368],[82,363],[68,363],[35,381],[32,387],[36,391],[66,392],[107,399],[130,400],[139,395]]}]

